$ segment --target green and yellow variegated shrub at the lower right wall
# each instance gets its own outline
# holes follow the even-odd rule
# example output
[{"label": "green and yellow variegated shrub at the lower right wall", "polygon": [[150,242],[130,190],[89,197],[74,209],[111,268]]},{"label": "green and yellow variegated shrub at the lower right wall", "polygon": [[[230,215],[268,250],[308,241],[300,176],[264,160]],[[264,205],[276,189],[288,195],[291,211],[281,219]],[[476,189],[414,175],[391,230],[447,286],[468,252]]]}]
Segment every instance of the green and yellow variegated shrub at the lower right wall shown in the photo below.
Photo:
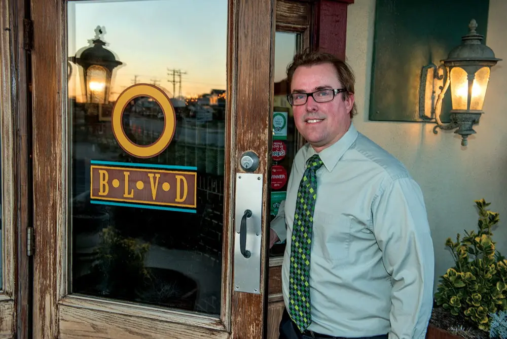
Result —
[{"label": "green and yellow variegated shrub at the lower right wall", "polygon": [[475,203],[478,231],[446,241],[455,265],[440,277],[427,339],[505,338],[507,260],[495,250],[491,231],[499,214],[487,210],[484,199]]}]

